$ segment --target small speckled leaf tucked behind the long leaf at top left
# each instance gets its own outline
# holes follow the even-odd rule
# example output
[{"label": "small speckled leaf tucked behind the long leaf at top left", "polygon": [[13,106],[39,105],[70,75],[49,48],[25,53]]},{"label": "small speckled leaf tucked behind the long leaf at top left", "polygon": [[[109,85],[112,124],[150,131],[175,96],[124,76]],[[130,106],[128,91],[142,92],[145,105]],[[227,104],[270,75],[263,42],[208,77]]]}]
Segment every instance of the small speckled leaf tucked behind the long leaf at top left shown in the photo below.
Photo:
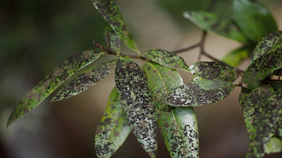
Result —
[{"label": "small speckled leaf tucked behind the long leaf at top left", "polygon": [[110,47],[118,51],[120,48],[119,36],[114,32],[114,30],[110,26],[106,26],[105,32],[104,32],[104,40],[106,43],[108,43],[107,30],[108,30],[109,39],[110,39]]}]

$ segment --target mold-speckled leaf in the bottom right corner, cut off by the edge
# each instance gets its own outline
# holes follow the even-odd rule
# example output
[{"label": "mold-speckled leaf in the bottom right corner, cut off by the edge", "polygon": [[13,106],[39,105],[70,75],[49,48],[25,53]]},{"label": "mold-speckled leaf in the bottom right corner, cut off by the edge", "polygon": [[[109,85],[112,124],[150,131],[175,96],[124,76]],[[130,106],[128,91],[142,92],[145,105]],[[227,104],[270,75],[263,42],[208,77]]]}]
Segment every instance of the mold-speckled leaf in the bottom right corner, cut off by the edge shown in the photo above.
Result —
[{"label": "mold-speckled leaf in the bottom right corner, cut off by the edge", "polygon": [[282,89],[272,93],[261,111],[263,113],[260,115],[255,135],[250,139],[247,158],[262,158],[271,138],[282,137]]}]

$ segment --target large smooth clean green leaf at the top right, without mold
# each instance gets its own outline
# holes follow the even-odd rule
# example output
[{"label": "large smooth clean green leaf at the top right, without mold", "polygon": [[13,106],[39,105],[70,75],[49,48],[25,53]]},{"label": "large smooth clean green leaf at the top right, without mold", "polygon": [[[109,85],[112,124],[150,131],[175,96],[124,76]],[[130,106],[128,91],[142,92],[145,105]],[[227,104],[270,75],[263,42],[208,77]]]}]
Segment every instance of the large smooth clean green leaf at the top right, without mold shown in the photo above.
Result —
[{"label": "large smooth clean green leaf at the top right, without mold", "polygon": [[260,1],[233,0],[233,17],[244,34],[255,43],[267,33],[277,31],[274,18]]}]

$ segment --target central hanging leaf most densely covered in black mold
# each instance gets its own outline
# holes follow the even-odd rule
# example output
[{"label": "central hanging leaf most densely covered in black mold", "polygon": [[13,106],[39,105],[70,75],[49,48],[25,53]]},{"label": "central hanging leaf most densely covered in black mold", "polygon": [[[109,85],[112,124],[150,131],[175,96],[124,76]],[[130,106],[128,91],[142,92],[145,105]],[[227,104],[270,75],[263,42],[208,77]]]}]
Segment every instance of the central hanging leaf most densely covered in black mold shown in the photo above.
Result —
[{"label": "central hanging leaf most densely covered in black mold", "polygon": [[120,58],[114,80],[128,124],[137,141],[151,158],[156,154],[156,116],[149,87],[142,70],[132,60]]}]

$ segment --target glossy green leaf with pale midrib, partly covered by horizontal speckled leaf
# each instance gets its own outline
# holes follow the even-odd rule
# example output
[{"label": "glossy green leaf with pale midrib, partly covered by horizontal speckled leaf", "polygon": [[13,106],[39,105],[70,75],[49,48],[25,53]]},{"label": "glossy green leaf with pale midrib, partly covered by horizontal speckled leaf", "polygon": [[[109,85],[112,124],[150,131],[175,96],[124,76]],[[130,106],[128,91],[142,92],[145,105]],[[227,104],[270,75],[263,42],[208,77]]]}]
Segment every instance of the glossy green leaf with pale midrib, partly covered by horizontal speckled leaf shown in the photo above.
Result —
[{"label": "glossy green leaf with pale midrib, partly covered by horizontal speckled leaf", "polygon": [[157,124],[171,158],[198,157],[197,121],[193,108],[170,107],[166,103],[167,93],[183,84],[180,75],[152,61],[145,63],[144,72],[156,106]]}]

